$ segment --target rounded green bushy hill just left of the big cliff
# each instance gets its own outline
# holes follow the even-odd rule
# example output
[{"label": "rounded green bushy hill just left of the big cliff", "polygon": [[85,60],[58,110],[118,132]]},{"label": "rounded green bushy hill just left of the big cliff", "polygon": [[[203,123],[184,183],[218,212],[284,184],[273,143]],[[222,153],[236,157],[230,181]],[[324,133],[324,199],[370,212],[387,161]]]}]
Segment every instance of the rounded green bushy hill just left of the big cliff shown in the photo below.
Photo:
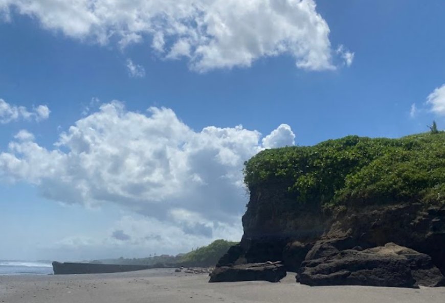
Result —
[{"label": "rounded green bushy hill just left of the big cliff", "polygon": [[237,242],[216,240],[210,245],[195,249],[182,256],[180,263],[187,266],[213,266]]}]

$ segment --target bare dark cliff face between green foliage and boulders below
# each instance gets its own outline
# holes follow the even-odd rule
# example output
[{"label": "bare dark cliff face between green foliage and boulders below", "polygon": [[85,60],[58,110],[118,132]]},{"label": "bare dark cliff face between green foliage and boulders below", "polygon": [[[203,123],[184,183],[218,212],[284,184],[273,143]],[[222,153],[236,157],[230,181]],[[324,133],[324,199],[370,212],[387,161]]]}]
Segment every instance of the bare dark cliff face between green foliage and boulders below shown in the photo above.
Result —
[{"label": "bare dark cliff face between green foliage and boulders below", "polygon": [[218,266],[282,261],[288,271],[298,272],[304,260],[392,242],[429,255],[445,273],[445,207],[354,204],[326,212],[298,205],[286,189],[278,183],[251,189],[242,240]]}]

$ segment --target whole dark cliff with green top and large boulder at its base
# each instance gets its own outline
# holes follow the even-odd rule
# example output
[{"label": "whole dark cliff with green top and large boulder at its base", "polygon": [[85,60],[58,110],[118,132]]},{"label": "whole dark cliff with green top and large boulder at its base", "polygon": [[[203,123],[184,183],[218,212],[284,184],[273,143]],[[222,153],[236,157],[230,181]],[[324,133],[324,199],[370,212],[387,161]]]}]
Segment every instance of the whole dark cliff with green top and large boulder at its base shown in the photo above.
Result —
[{"label": "whole dark cliff with green top and large boulder at its base", "polygon": [[280,261],[308,285],[445,286],[445,133],[265,150],[245,181],[244,235],[211,280]]}]

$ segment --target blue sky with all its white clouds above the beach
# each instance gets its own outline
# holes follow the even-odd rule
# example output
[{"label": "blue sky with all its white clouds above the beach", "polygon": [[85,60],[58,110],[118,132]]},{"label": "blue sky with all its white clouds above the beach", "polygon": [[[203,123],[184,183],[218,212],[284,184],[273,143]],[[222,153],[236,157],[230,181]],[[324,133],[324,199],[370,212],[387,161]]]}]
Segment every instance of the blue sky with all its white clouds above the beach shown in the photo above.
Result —
[{"label": "blue sky with all its white clouds above the beach", "polygon": [[445,125],[442,0],[0,0],[0,260],[239,241],[264,149]]}]

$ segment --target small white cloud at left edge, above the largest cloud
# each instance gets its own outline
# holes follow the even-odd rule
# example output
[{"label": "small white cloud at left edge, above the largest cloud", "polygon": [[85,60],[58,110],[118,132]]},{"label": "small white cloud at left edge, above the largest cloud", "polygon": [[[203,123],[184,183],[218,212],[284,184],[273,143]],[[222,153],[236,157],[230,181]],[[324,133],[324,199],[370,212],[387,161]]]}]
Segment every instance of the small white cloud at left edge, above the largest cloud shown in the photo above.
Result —
[{"label": "small white cloud at left edge, above the largest cloud", "polygon": [[46,105],[39,105],[33,111],[28,111],[24,106],[16,106],[0,99],[0,123],[6,124],[18,120],[46,120],[50,116],[50,109]]}]

